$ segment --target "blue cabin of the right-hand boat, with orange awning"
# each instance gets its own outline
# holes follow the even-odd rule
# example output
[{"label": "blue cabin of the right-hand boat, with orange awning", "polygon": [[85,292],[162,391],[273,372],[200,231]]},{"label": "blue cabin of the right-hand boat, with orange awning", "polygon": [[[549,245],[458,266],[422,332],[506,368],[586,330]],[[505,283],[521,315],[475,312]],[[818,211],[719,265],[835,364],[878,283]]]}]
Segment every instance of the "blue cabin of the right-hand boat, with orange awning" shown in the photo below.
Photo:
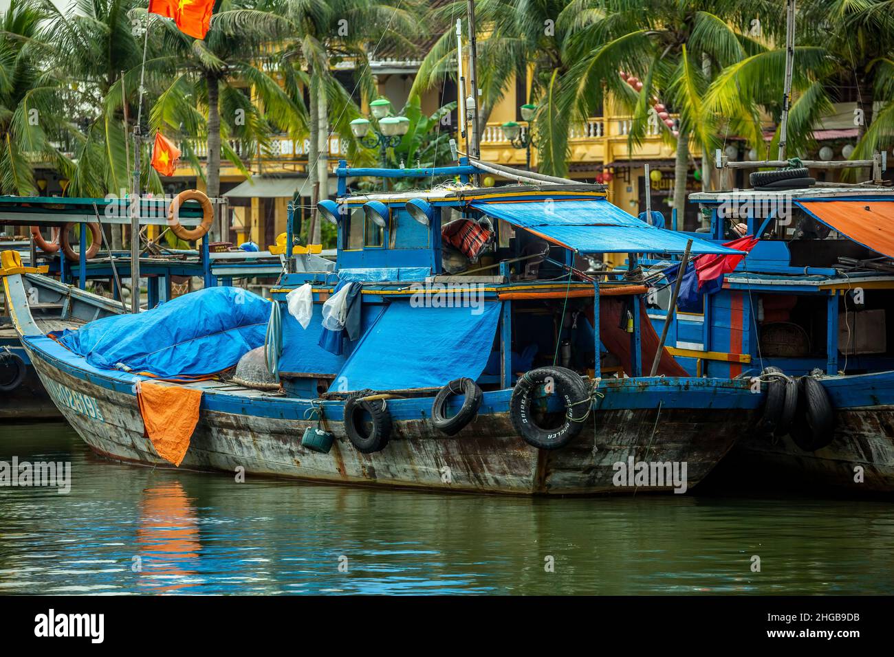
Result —
[{"label": "blue cabin of the right-hand boat, with orange awning", "polygon": [[[894,368],[894,193],[881,186],[691,194],[702,237],[755,247],[716,293],[679,305],[671,352],[692,375],[790,375]],[[661,267],[659,259],[648,265]],[[670,291],[649,317],[661,331]]]}]

